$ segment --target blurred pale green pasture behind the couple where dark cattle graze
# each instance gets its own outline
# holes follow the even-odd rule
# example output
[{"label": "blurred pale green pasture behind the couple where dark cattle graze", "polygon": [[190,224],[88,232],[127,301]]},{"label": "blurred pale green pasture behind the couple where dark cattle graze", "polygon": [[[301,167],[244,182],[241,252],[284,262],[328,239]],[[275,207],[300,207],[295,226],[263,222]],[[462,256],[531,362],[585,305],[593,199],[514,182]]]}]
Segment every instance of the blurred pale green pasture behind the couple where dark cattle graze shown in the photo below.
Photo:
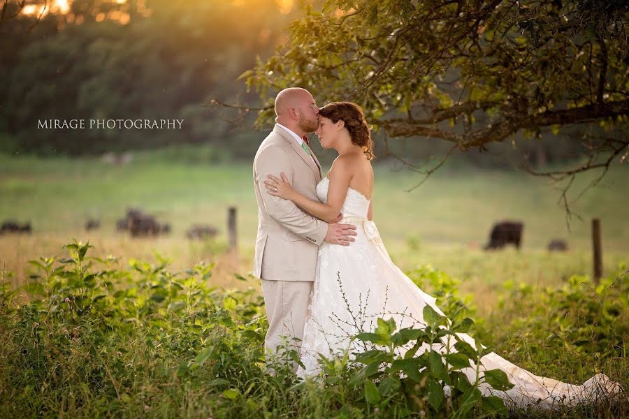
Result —
[{"label": "blurred pale green pasture behind the couple where dark cattle graze", "polygon": [[[610,170],[598,186],[571,207],[570,231],[558,205],[560,191],[546,179],[523,172],[478,170],[451,162],[422,186],[407,192],[421,175],[376,168],[374,219],[393,260],[404,270],[431,264],[461,279],[461,289],[475,295],[481,312],[491,311],[503,281],[534,286],[559,284],[571,274],[591,272],[590,220],[602,220],[605,268],[629,258],[629,167]],[[594,177],[584,174],[573,196]],[[225,249],[227,207],[238,207],[238,257],[219,256]],[[171,235],[131,239],[115,232],[115,220],[127,207],[140,207],[171,223]],[[101,220],[101,229],[82,230],[85,220]],[[257,225],[251,167],[247,163],[185,163],[168,154],[145,152],[127,166],[98,159],[0,157],[0,220],[31,221],[33,235],[0,237],[0,266],[14,272],[15,285],[27,280],[27,260],[62,253],[75,237],[89,240],[96,253],[123,260],[154,260],[154,252],[183,269],[200,260],[218,262],[215,281],[243,286],[231,272],[251,270]],[[494,221],[525,223],[523,249],[484,252]],[[221,230],[211,243],[190,242],[185,230],[209,223]],[[570,251],[548,253],[547,242],[567,240]],[[250,281],[249,285],[255,285]]]}]

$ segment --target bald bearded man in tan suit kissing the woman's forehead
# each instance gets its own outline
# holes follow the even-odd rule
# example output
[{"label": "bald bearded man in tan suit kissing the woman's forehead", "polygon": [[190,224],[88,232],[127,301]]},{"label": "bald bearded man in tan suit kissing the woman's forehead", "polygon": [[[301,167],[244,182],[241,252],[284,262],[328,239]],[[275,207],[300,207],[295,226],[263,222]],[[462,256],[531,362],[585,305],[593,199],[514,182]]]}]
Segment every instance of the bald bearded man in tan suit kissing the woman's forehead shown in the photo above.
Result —
[{"label": "bald bearded man in tan suit kissing the woman's forehead", "polygon": [[306,137],[317,129],[318,114],[308,90],[291,87],[280,91],[275,97],[277,124],[254,159],[258,235],[253,274],[262,280],[268,318],[265,346],[270,352],[275,352],[282,336],[298,338],[293,344],[301,348],[321,243],[349,246],[356,235],[356,226],[321,221],[290,200],[270,195],[264,186],[267,175],[284,172],[296,191],[319,199],[316,186],[321,182],[321,165]]}]

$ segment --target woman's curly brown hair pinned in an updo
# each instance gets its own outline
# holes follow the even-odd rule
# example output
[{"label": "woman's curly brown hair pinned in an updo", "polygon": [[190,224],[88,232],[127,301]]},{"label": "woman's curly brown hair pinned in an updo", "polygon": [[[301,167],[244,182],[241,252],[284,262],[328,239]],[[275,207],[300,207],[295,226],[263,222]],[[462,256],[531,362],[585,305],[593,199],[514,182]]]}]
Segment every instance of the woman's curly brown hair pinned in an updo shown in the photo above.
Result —
[{"label": "woman's curly brown hair pinned in an updo", "polygon": [[373,139],[359,105],[352,102],[332,102],[319,109],[319,115],[331,119],[334,124],[339,121],[345,122],[352,144],[361,147],[368,160],[375,158]]}]

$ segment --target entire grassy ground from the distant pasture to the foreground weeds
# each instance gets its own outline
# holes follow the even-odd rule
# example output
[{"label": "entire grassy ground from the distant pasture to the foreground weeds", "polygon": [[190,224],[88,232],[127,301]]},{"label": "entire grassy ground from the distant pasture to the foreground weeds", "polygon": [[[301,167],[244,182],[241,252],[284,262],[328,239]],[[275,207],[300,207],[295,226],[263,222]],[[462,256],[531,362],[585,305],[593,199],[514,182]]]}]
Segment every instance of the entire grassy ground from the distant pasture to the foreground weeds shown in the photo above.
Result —
[{"label": "entire grassy ground from the distant pasture to the foreground weeds", "polygon": [[[575,190],[593,175],[579,177]],[[410,193],[417,175],[381,163],[376,177],[375,221],[393,260],[438,296],[447,313],[459,299],[471,303],[473,336],[533,374],[583,383],[603,372],[629,388],[628,168],[613,168],[572,205],[584,221],[573,219],[570,232],[557,205],[559,191],[521,172],[451,162]],[[237,252],[226,246],[230,205],[238,207]],[[133,239],[117,233],[115,220],[126,207],[170,223],[171,234]],[[442,404],[426,404],[445,381],[426,387],[415,380],[409,392],[398,372],[361,377],[355,366],[338,367],[340,360],[324,383],[301,390],[279,364],[280,373],[268,374],[259,281],[234,275],[251,270],[256,212],[245,163],[185,163],[164,152],[138,154],[128,166],[0,157],[0,220],[34,227],[32,235],[0,236],[0,399],[8,401],[0,403],[0,416],[393,418],[425,410],[427,418],[458,417]],[[592,270],[593,216],[602,220],[607,278],[600,284],[575,276]],[[85,232],[88,218],[100,219],[101,229]],[[482,251],[491,224],[503,218],[525,223],[523,248]],[[191,242],[185,230],[192,223],[217,226],[221,234]],[[80,245],[62,249],[71,237],[94,245],[89,256],[120,260],[84,270]],[[567,240],[570,251],[547,252],[553,237]],[[39,270],[31,279],[36,269],[28,260],[67,258],[68,251],[73,260],[42,261],[63,264],[63,272],[59,267],[47,279]],[[182,272],[201,261],[216,265]],[[14,304],[6,280],[10,288],[27,284],[35,297],[21,291],[15,302],[31,304]],[[398,390],[386,390],[385,383],[397,383]],[[368,388],[386,397],[374,402]],[[463,395],[454,397],[455,409]],[[516,410],[509,417],[626,417],[625,396],[535,416]],[[477,399],[462,417],[486,418],[488,409]]]}]

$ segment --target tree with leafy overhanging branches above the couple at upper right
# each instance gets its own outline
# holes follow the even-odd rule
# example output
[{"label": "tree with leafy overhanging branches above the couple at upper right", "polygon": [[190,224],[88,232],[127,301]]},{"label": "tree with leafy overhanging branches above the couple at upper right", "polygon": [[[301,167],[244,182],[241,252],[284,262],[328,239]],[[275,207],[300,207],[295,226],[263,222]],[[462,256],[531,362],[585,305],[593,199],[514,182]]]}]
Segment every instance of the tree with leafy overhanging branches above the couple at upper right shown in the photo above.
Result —
[{"label": "tree with leafy overhanging branches above the couple at upper right", "polygon": [[259,123],[275,91],[301,86],[356,101],[391,137],[451,150],[600,124],[608,134],[579,138],[586,163],[538,173],[564,179],[629,155],[628,24],[621,0],[327,0],[243,77],[263,101]]}]

